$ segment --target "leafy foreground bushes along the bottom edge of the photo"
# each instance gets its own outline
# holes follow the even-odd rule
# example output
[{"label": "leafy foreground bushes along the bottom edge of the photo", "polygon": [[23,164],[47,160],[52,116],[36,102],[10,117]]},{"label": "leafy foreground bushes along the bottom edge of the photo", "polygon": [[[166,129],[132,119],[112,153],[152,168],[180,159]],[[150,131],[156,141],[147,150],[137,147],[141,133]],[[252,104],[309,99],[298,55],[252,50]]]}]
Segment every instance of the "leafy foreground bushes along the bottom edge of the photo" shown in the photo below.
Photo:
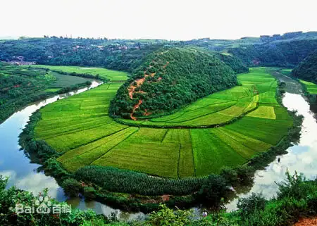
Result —
[{"label": "leafy foreground bushes along the bottom edge of the photo", "polygon": [[[17,203],[32,205],[37,198],[30,192],[15,187],[5,189],[7,179],[0,175],[0,224],[1,225],[63,225],[63,226],[272,226],[293,225],[303,215],[316,215],[317,180],[305,180],[302,175],[287,172],[285,182],[279,184],[275,199],[266,200],[261,194],[252,194],[240,199],[237,211],[225,213],[218,211],[207,218],[193,220],[191,211],[173,211],[161,205],[159,211],[149,214],[144,221],[120,222],[115,215],[105,217],[93,211],[73,209],[62,214],[19,214],[15,213]],[[46,192],[44,191],[44,195]],[[50,199],[51,203],[57,203]]]}]

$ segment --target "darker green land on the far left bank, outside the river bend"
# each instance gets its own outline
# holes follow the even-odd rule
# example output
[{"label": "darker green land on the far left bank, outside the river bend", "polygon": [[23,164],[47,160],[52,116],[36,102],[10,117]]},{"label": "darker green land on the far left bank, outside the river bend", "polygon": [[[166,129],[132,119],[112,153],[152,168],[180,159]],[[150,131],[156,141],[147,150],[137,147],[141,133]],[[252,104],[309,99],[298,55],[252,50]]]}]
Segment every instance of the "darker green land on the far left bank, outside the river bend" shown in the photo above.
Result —
[{"label": "darker green land on the far left bank, outside the river bend", "polygon": [[86,87],[93,78],[94,75],[87,73],[57,72],[0,62],[0,122],[28,103]]}]

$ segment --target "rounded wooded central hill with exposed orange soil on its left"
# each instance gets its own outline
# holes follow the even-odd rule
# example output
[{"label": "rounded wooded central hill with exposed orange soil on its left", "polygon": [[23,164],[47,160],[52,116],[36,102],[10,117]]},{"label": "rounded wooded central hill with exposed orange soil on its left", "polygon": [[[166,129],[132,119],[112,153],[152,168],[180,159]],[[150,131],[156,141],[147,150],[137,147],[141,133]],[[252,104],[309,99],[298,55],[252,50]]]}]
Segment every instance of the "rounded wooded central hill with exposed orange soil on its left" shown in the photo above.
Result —
[{"label": "rounded wooded central hill with exposed orange soil on its left", "polygon": [[164,48],[150,54],[111,102],[114,117],[168,113],[237,84],[234,71],[216,56],[189,48]]}]

